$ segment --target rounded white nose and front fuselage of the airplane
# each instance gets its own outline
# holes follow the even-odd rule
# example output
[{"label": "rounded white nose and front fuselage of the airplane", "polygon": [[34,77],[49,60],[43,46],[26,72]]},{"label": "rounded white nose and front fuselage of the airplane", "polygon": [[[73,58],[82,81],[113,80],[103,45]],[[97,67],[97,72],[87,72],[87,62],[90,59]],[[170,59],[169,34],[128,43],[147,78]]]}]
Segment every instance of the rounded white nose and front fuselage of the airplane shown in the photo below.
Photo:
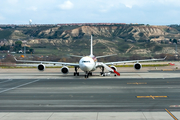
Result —
[{"label": "rounded white nose and front fuselage of the airplane", "polygon": [[93,56],[82,57],[79,61],[79,67],[84,72],[90,72],[96,70],[97,59]]}]

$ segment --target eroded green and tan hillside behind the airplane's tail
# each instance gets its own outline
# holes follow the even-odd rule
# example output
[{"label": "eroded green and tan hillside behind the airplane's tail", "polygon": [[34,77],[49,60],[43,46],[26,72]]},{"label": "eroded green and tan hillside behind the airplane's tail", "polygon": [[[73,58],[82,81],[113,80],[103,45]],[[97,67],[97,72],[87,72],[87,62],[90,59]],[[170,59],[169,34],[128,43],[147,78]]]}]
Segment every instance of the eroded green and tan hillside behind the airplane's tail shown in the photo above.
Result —
[{"label": "eroded green and tan hillside behind the airplane's tail", "polygon": [[174,54],[172,40],[180,39],[179,26],[149,25],[44,25],[0,26],[0,39],[12,45],[26,41],[34,54],[89,54],[90,35],[94,36],[96,55],[116,53],[121,56],[140,54]]}]

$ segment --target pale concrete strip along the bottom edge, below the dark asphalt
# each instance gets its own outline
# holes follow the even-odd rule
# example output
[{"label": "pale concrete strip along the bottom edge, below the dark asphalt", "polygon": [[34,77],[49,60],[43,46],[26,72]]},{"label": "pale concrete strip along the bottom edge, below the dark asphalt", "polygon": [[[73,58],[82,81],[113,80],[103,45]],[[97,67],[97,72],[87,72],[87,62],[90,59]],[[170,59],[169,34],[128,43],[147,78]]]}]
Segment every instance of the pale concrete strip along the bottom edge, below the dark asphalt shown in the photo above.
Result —
[{"label": "pale concrete strip along the bottom edge, below the dark asphalt", "polygon": [[[172,112],[180,118],[180,112]],[[173,120],[166,112],[0,113],[1,120]]]}]

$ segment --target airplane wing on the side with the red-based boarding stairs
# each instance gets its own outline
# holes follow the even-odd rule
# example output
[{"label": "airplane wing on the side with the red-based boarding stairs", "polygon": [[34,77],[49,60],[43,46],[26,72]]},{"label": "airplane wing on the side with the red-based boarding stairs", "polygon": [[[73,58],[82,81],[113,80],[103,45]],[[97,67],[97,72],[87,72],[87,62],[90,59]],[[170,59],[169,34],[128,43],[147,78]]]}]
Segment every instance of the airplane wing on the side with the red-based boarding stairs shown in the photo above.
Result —
[{"label": "airplane wing on the side with the red-based boarding stairs", "polygon": [[161,58],[161,59],[144,59],[144,60],[130,60],[130,61],[108,62],[108,63],[105,63],[105,64],[106,65],[114,65],[114,64],[122,64],[122,63],[134,63],[134,62],[139,63],[139,62],[147,62],[147,61],[159,61],[159,60],[165,60],[166,57]]}]

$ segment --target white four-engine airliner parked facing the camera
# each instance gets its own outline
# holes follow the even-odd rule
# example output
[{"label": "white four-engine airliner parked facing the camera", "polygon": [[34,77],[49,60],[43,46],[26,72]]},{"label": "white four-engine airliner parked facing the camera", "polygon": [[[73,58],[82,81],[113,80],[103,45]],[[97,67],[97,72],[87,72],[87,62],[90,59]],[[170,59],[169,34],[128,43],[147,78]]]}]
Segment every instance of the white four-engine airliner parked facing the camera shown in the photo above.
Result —
[{"label": "white four-engine airliner parked facing the camera", "polygon": [[98,62],[97,61],[98,58],[109,57],[109,56],[113,56],[113,55],[105,55],[105,56],[97,56],[97,57],[94,56],[93,55],[93,37],[91,35],[90,55],[88,55],[88,56],[71,55],[72,57],[81,58],[79,60],[79,63],[17,60],[15,57],[14,57],[14,59],[17,62],[38,63],[39,65],[38,66],[36,65],[36,66],[37,66],[39,71],[44,71],[45,70],[45,67],[46,67],[45,64],[62,65],[63,67],[61,68],[61,72],[63,74],[68,74],[69,73],[68,66],[74,66],[74,68],[75,68],[74,76],[79,76],[79,72],[77,72],[77,71],[80,68],[82,71],[85,72],[85,75],[84,75],[85,78],[88,78],[89,76],[92,76],[92,72],[95,71],[97,68],[100,68],[102,70],[102,72],[100,72],[100,74],[102,76],[106,76],[106,74],[104,72],[104,68],[107,69],[110,73],[114,73],[114,76],[120,76],[120,73],[117,72],[117,68],[114,66],[114,64],[134,63],[135,62],[134,68],[136,70],[140,70],[142,68],[142,65],[139,62],[165,60],[165,58],[166,58],[165,57],[165,58],[162,58],[162,59],[117,61],[117,62],[108,62],[108,63],[103,63],[103,62]]}]

